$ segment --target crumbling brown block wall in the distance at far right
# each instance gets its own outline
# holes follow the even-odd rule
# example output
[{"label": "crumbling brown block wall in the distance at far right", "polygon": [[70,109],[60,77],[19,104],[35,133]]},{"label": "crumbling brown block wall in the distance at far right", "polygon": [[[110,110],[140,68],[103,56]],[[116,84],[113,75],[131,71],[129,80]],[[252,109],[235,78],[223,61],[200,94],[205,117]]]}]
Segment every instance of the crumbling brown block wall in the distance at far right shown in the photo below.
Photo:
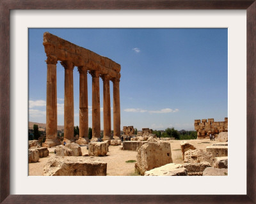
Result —
[{"label": "crumbling brown block wall in the distance at far right", "polygon": [[214,122],[214,119],[195,120],[195,130],[197,132],[197,139],[209,138],[209,135],[215,135],[228,131],[228,118],[225,121]]}]

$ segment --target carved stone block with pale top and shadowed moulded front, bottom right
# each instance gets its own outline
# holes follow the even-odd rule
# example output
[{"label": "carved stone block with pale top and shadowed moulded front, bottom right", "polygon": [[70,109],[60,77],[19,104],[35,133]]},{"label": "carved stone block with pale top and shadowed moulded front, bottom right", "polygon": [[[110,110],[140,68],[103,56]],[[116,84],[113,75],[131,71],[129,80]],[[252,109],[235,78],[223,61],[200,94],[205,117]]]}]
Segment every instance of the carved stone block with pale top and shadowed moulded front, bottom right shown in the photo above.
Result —
[{"label": "carved stone block with pale top and shadowed moulded front, bottom right", "polygon": [[193,163],[193,164],[185,163],[182,166],[186,168],[189,176],[195,176],[195,175],[202,176],[205,168],[211,167],[211,164],[207,161],[203,161],[202,163]]}]

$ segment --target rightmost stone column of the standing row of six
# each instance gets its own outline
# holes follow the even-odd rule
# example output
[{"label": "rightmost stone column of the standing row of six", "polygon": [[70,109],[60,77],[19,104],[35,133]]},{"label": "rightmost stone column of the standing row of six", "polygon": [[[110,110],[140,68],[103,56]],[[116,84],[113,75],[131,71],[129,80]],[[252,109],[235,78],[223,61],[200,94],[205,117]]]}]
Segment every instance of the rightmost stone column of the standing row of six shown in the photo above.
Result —
[{"label": "rightmost stone column of the standing row of six", "polygon": [[120,93],[119,78],[113,78],[113,119],[114,119],[114,138],[120,139]]}]

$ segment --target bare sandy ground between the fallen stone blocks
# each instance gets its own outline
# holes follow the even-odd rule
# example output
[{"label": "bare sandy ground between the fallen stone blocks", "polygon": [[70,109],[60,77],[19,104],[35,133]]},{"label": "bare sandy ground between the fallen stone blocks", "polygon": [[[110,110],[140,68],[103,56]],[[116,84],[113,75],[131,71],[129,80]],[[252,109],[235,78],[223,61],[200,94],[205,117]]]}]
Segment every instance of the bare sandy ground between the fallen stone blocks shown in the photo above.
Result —
[{"label": "bare sandy ground between the fallen stone blocks", "polygon": [[[180,149],[180,142],[184,140],[170,140],[172,148],[173,163],[183,163]],[[212,143],[220,143],[207,140],[188,140],[189,143],[195,145],[196,149],[206,149]],[[81,147],[83,155],[88,154],[86,147]],[[137,152],[129,150],[120,150],[120,146],[109,146],[107,156],[97,157],[99,161],[104,161],[107,164],[108,176],[132,176],[134,173],[134,163],[125,163],[128,160],[136,160]],[[49,157],[54,156],[54,148],[49,148],[49,156],[40,158],[38,163],[29,163],[29,176],[42,176],[44,164],[47,163]]]}]

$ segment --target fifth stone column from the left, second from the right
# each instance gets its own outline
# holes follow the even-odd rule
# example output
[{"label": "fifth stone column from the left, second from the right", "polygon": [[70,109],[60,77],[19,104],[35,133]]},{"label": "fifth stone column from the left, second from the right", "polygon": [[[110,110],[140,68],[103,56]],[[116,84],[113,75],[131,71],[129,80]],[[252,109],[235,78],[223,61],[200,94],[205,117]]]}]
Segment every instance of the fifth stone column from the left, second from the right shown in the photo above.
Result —
[{"label": "fifth stone column from the left, second from the right", "polygon": [[102,75],[103,80],[103,120],[104,136],[103,141],[111,140],[111,107],[109,91],[109,75]]}]

